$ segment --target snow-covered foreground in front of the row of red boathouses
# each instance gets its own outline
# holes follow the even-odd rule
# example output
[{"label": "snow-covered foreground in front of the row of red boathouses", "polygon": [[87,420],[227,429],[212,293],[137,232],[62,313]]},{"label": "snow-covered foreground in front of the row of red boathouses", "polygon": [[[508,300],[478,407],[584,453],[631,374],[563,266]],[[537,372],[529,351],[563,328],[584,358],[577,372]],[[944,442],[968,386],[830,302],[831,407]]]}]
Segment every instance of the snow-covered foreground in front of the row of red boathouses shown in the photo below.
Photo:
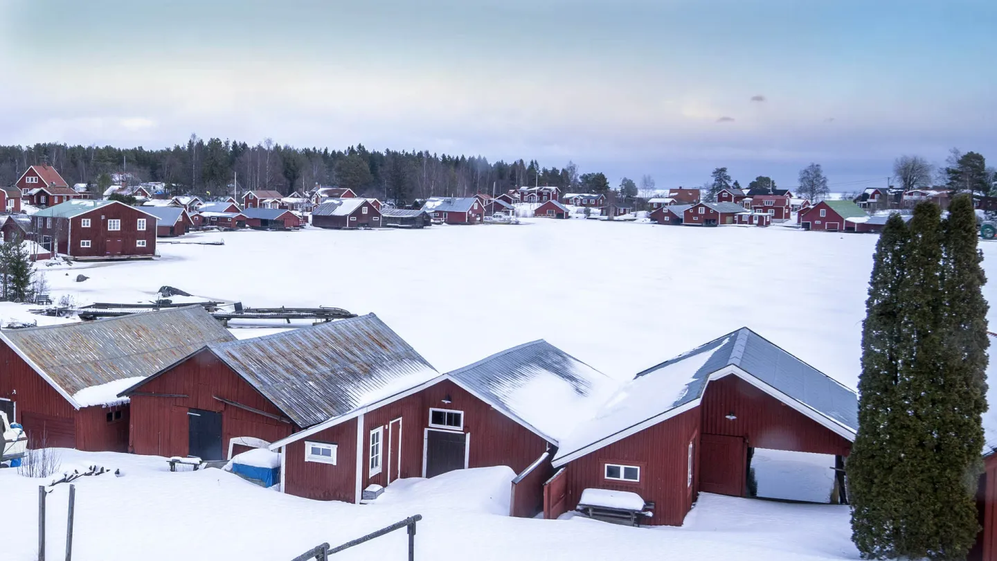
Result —
[{"label": "snow-covered foreground in front of the row of red boathouses", "polygon": [[[220,469],[168,471],[165,458],[60,450],[63,468],[121,469],[75,481],[76,561],[280,560],[347,542],[422,514],[417,559],[481,561],[660,559],[766,561],[857,559],[847,508],[789,505],[703,494],[682,528],[629,528],[581,517],[509,518],[513,473],[495,467],[393,483],[373,504],[322,502],[263,489]],[[36,559],[38,485],[0,470],[4,561]],[[47,499],[47,557],[61,558],[69,486]],[[337,559],[404,559],[399,530],[336,554]],[[457,556],[457,557],[455,557]]]}]

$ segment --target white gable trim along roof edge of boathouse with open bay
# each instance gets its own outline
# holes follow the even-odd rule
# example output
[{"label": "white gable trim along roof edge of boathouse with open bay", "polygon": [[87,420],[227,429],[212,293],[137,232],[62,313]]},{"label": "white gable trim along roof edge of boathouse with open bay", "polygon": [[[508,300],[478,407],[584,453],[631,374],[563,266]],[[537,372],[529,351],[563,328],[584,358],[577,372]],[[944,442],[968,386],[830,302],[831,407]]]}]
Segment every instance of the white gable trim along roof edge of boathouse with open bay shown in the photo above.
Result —
[{"label": "white gable trim along roof edge of boathouse with open bay", "polygon": [[[729,375],[736,375],[739,378],[747,381],[748,383],[761,389],[762,391],[768,393],[769,395],[775,397],[776,399],[779,399],[781,402],[785,403],[786,405],[793,407],[793,409],[795,409],[797,412],[802,413],[811,420],[818,422],[819,424],[821,424],[828,430],[831,430],[831,432],[837,434],[841,438],[844,438],[849,442],[855,441],[855,433],[850,428],[844,426],[840,422],[832,419],[831,417],[825,415],[824,413],[821,413],[820,411],[814,409],[813,407],[810,407],[809,405],[802,403],[793,397],[790,397],[789,395],[783,393],[782,391],[779,391],[778,389],[772,387],[771,385],[765,383],[759,378],[741,369],[739,366],[735,366],[733,364],[725,366],[720,370],[717,370],[716,372],[710,374],[709,379],[707,380],[706,384],[703,386],[703,392],[704,393],[706,392],[706,389],[707,387],[709,387],[711,381],[718,380],[720,378],[727,377]],[[571,451],[570,453],[565,454],[564,456],[554,457],[554,460],[551,462],[551,464],[554,467],[560,467],[584,455],[590,454],[598,449],[604,448],[614,442],[618,442],[628,436],[632,436],[644,430],[645,428],[649,428],[662,421],[668,420],[680,413],[684,413],[694,407],[698,407],[702,402],[702,400],[703,396],[701,394],[699,397],[688,403],[675,407],[674,409],[665,411],[661,414],[655,415],[647,420],[641,421],[633,426],[630,426],[629,428],[625,428],[615,434],[606,436],[601,440],[597,440],[595,442],[592,442],[591,444],[578,448],[577,450]]]}]

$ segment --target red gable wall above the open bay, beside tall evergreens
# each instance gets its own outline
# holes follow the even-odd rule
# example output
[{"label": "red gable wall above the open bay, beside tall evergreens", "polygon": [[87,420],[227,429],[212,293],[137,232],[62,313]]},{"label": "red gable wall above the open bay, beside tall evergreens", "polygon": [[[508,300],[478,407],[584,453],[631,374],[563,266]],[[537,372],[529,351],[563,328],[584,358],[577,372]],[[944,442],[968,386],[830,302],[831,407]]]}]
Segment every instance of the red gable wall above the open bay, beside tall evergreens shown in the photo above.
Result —
[{"label": "red gable wall above the open bay, beside tall evergreens", "polygon": [[[703,433],[742,436],[748,445],[846,456],[851,443],[735,375],[713,380],[700,404]],[[726,418],[730,413],[737,418]]]}]

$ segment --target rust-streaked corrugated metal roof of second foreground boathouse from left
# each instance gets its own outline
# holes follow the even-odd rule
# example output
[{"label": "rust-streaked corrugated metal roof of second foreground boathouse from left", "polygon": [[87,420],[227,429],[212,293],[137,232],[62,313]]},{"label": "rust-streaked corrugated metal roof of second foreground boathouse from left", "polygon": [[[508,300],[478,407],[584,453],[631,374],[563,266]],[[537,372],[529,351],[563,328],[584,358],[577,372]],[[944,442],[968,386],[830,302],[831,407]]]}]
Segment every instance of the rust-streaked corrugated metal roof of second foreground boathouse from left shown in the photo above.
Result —
[{"label": "rust-streaked corrugated metal roof of second foreground boathouse from left", "polygon": [[301,427],[440,375],[373,313],[208,348]]}]

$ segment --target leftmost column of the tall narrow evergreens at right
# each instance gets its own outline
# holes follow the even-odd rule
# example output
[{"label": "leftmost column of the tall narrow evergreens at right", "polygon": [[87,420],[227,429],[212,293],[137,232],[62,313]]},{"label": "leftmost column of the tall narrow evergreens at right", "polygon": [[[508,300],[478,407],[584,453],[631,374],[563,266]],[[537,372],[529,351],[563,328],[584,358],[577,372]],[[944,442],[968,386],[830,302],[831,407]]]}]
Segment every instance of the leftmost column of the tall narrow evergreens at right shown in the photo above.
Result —
[{"label": "leftmost column of the tall narrow evergreens at right", "polygon": [[902,425],[899,407],[900,282],[904,278],[907,226],[898,215],[886,222],[872,264],[865,321],[862,371],[858,378],[858,433],[848,457],[852,541],[866,558],[895,557],[901,489],[888,474],[902,450],[889,436]]}]

